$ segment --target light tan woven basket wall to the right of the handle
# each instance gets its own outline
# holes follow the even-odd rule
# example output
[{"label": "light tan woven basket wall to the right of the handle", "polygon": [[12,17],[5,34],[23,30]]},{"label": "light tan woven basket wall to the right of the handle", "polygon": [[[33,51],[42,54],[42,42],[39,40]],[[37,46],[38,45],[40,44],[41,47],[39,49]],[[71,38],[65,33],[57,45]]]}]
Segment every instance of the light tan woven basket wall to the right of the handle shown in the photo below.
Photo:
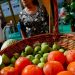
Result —
[{"label": "light tan woven basket wall to the right of the handle", "polygon": [[59,45],[68,50],[75,49],[75,34],[66,34],[61,36],[59,39]]}]

